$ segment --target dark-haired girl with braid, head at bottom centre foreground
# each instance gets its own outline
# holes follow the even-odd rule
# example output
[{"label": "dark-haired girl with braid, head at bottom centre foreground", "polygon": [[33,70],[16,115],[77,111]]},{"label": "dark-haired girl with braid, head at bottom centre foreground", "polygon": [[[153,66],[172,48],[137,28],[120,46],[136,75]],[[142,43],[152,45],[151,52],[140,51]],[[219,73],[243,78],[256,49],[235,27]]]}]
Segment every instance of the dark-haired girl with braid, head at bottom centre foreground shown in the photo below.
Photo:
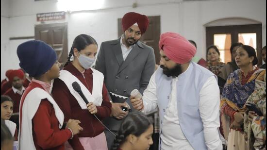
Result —
[{"label": "dark-haired girl with braid, head at bottom centre foreground", "polygon": [[121,123],[111,150],[149,150],[153,125],[148,117],[134,112]]}]

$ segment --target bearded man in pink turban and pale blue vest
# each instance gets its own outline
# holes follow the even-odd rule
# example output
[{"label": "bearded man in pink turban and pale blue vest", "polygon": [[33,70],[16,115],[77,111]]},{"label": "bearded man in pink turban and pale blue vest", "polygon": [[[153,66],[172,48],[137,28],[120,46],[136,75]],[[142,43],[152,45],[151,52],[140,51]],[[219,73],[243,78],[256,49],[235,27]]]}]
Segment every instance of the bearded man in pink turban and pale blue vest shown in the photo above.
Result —
[{"label": "bearded man in pink turban and pale blue vest", "polygon": [[159,107],[160,150],[222,150],[217,77],[191,61],[196,48],[180,34],[163,33],[159,48],[161,66],[133,107]]}]

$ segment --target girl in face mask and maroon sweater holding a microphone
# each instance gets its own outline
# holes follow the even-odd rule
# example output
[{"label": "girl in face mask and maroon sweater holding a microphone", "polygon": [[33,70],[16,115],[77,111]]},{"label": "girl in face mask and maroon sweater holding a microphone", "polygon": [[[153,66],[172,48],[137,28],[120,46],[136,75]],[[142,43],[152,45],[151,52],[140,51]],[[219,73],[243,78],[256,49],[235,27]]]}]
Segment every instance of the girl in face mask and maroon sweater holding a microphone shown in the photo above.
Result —
[{"label": "girl in face mask and maroon sweater holding a microphone", "polygon": [[[63,111],[65,119],[79,119],[83,128],[81,133],[66,143],[66,150],[72,150],[71,146],[79,150],[107,150],[104,127],[94,116],[102,120],[111,113],[111,103],[103,83],[104,76],[91,68],[97,49],[98,45],[93,37],[78,35],[73,41],[67,63],[60,71],[59,79],[53,84],[53,98]],[[73,61],[70,61],[71,56]],[[87,105],[72,87],[74,82],[81,86],[83,95],[89,101]]]}]

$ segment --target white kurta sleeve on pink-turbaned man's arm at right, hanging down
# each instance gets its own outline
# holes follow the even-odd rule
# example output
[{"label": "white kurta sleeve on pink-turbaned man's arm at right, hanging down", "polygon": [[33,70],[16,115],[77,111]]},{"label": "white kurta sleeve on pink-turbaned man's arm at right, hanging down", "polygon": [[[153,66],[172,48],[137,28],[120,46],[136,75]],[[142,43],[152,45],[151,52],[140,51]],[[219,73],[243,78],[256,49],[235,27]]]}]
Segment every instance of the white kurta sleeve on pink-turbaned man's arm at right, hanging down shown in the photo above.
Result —
[{"label": "white kurta sleeve on pink-turbaned man's arm at right, hanging down", "polygon": [[200,117],[204,127],[205,143],[208,150],[222,150],[219,137],[220,93],[217,80],[210,77],[200,90]]}]

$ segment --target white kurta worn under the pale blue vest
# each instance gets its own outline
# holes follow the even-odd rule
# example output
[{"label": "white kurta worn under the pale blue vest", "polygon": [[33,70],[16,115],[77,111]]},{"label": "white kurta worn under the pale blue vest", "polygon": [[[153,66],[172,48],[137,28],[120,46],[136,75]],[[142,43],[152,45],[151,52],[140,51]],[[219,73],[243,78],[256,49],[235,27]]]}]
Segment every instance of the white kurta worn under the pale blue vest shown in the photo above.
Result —
[{"label": "white kurta worn under the pale blue vest", "polygon": [[[190,66],[189,66],[190,67]],[[163,150],[193,150],[181,130],[177,110],[177,89],[175,86],[178,78],[172,80],[171,99],[168,103],[162,124],[161,148]],[[150,78],[150,83],[144,91],[144,109],[150,112],[157,106],[157,93],[155,73]],[[219,122],[219,89],[214,76],[208,78],[200,90],[200,117],[204,127],[204,138],[208,150],[221,150],[222,144],[218,134]]]}]

